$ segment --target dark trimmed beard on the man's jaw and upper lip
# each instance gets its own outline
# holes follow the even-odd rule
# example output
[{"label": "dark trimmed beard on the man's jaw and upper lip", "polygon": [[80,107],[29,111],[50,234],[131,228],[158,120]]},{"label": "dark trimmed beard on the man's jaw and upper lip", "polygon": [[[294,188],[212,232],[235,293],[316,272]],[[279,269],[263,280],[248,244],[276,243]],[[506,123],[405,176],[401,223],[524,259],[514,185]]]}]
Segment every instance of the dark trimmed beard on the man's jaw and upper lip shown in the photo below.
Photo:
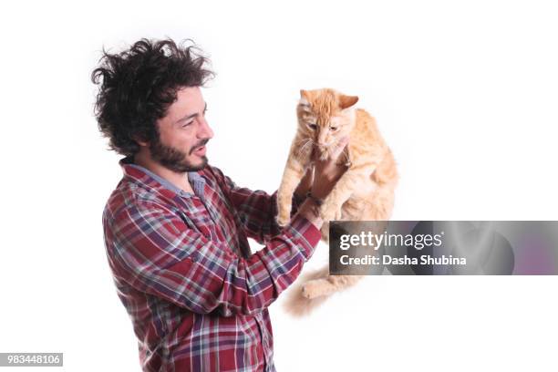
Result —
[{"label": "dark trimmed beard on the man's jaw and upper lip", "polygon": [[[193,150],[202,147],[207,143],[208,140],[202,140],[191,148],[189,154]],[[186,160],[186,153],[173,148],[171,146],[164,145],[160,142],[159,136],[156,136],[154,140],[150,143],[151,158],[165,168],[177,173],[183,173],[186,171],[201,171],[207,165],[207,157],[202,156],[202,163],[198,165],[192,164],[190,161]]]}]

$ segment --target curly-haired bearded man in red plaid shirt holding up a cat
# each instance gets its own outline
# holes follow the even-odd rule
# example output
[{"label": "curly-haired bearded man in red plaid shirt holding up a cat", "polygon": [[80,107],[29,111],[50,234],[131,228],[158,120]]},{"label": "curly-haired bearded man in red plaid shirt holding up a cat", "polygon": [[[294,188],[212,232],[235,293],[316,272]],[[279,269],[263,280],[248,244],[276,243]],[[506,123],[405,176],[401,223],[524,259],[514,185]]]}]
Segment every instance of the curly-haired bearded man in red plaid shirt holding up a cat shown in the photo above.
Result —
[{"label": "curly-haired bearded man in red plaid shirt holding up a cat", "polygon": [[[280,229],[275,194],[207,163],[206,62],[194,46],[142,39],[93,72],[99,129],[125,156],[103,213],[109,265],[143,370],[274,371],[267,307],[314,252],[317,201],[345,169],[318,162]],[[251,253],[248,237],[264,248]]]}]

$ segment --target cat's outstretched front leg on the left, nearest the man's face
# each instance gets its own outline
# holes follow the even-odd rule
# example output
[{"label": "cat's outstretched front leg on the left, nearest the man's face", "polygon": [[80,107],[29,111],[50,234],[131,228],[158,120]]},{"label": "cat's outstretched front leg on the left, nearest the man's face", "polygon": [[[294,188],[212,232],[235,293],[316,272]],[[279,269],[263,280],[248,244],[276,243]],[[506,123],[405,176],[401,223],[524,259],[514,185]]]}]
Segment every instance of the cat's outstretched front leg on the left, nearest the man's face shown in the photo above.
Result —
[{"label": "cat's outstretched front leg on the left, nearest the man's face", "polygon": [[277,224],[284,226],[291,221],[293,194],[305,175],[305,166],[290,156],[284,167],[283,179],[277,190]]}]

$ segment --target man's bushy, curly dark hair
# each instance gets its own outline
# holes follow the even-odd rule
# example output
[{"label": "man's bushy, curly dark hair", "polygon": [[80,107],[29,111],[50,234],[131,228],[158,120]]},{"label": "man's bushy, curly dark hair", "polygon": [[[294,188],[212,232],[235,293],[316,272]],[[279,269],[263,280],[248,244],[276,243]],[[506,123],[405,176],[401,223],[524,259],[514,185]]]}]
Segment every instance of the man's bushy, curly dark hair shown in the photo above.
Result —
[{"label": "man's bushy, curly dark hair", "polygon": [[140,150],[136,140],[159,138],[156,121],[179,89],[202,87],[214,76],[208,64],[189,39],[177,45],[171,39],[143,38],[118,54],[103,49],[91,80],[100,84],[95,116],[110,148],[131,156]]}]

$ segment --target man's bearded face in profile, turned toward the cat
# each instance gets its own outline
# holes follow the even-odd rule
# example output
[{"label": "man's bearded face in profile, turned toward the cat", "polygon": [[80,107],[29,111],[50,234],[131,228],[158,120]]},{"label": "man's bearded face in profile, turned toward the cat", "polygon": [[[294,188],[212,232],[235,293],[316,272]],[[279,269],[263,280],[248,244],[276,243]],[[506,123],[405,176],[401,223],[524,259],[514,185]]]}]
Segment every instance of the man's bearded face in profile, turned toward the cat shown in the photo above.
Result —
[{"label": "man's bearded face in profile, turned toward the cat", "polygon": [[150,143],[151,158],[171,171],[202,170],[207,164],[205,144],[213,137],[205,109],[199,87],[181,88],[167,116],[157,121],[160,137]]}]

